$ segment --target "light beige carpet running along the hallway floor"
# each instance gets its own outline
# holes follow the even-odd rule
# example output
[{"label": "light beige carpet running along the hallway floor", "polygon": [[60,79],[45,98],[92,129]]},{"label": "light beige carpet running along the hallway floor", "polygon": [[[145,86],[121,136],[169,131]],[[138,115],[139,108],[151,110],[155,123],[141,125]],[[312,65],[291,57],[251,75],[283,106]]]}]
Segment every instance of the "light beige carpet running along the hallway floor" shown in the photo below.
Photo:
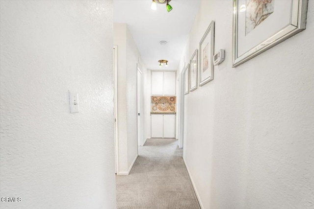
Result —
[{"label": "light beige carpet running along the hallway floor", "polygon": [[200,209],[176,139],[147,139],[128,176],[116,176],[117,209]]}]

